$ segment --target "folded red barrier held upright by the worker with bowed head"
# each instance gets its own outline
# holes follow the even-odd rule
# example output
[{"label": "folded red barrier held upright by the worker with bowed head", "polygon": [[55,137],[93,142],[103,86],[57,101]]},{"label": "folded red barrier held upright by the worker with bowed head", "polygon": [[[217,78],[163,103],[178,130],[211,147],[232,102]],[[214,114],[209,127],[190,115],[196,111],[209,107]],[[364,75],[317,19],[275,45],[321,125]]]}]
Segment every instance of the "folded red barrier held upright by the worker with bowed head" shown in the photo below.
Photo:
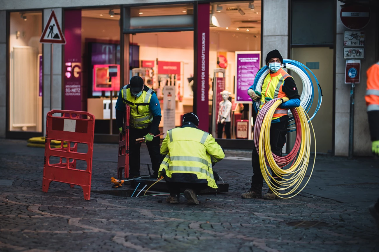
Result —
[{"label": "folded red barrier held upright by the worker with bowed head", "polygon": [[129,116],[130,107],[125,105],[124,130],[125,134],[120,133],[119,138],[119,154],[117,160],[117,178],[122,179],[122,170],[124,170],[124,178],[129,176]]}]

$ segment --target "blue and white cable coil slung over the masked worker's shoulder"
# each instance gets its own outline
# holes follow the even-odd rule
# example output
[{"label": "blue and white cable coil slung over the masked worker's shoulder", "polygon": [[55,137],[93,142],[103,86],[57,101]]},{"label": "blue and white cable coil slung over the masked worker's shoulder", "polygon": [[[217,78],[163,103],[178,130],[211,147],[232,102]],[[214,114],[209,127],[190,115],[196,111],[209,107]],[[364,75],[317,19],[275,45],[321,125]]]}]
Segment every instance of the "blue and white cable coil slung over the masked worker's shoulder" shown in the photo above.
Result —
[{"label": "blue and white cable coil slung over the masked worker's shoulder", "polygon": [[[323,96],[321,87],[319,85],[319,82],[318,82],[316,76],[312,73],[312,71],[309,70],[309,68],[307,68],[307,66],[305,66],[304,64],[302,64],[301,62],[298,62],[296,60],[288,60],[288,59],[283,60],[282,68],[288,68],[290,70],[293,70],[296,74],[299,75],[299,77],[302,81],[302,86],[303,86],[301,96],[300,96],[300,106],[303,107],[307,113],[309,112],[310,108],[312,107],[313,97],[314,97],[314,88],[313,88],[312,78],[308,74],[307,70],[315,78],[316,84],[317,84],[317,89],[318,89],[318,102],[317,102],[315,112],[313,113],[313,115],[309,119],[309,121],[311,121],[313,119],[313,117],[315,117],[315,115],[317,114],[317,112],[321,106],[322,96]],[[269,70],[268,66],[263,66],[258,71],[258,73],[254,79],[253,90],[256,90],[256,91],[259,91],[262,93],[263,81],[265,80],[265,78],[269,74],[269,72],[270,72],[270,70]],[[254,102],[253,107],[254,107],[255,112],[258,112],[259,107],[260,107],[260,101]],[[293,117],[291,111],[288,111],[288,116],[289,116],[288,121],[294,120],[294,117]],[[293,125],[293,124],[290,124],[290,125]],[[295,127],[292,127],[290,129],[291,129],[290,131],[294,131]]]}]

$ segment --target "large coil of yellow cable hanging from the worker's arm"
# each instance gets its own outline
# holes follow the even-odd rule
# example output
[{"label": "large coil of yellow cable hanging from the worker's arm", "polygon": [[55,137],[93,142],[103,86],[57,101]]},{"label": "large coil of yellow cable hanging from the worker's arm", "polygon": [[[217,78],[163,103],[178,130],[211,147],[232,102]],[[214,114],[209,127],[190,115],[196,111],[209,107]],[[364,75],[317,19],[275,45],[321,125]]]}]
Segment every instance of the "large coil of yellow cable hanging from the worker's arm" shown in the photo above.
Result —
[{"label": "large coil of yellow cable hanging from the worker's arm", "polygon": [[[288,98],[283,98],[283,100],[287,101]],[[315,136],[315,131],[313,129],[312,122],[309,121],[312,127],[312,131],[313,131],[313,138],[315,139],[315,158],[313,160],[312,171],[309,175],[307,182],[298,192],[293,194],[301,185],[304,179],[305,173],[307,172],[307,168],[309,164],[310,143],[311,143],[310,128],[309,128],[309,124],[307,120],[307,118],[309,119],[309,116],[307,112],[304,110],[304,108],[302,107],[295,108],[297,113],[299,114],[299,119],[300,119],[300,125],[296,124],[296,128],[301,130],[301,145],[300,145],[298,156],[296,160],[294,161],[294,163],[291,165],[291,167],[287,169],[281,169],[274,160],[273,153],[271,152],[271,145],[270,145],[271,121],[272,121],[276,108],[281,103],[282,101],[280,99],[276,100],[269,107],[269,109],[267,110],[267,113],[263,117],[262,125],[260,128],[259,140],[258,140],[259,142],[258,154],[259,154],[259,162],[260,162],[262,175],[269,189],[271,189],[275,193],[275,195],[277,195],[279,198],[288,199],[288,198],[292,198],[293,196],[296,196],[299,192],[301,192],[304,189],[304,187],[308,184],[309,179],[312,176],[313,168],[315,167],[315,161],[316,161],[316,136]],[[271,170],[273,171],[272,175],[270,174],[268,166],[271,167]],[[273,178],[273,176],[282,177],[282,181],[275,181],[276,184],[274,184],[273,182],[271,182],[271,178]],[[288,191],[283,192],[284,190],[288,190]]]}]

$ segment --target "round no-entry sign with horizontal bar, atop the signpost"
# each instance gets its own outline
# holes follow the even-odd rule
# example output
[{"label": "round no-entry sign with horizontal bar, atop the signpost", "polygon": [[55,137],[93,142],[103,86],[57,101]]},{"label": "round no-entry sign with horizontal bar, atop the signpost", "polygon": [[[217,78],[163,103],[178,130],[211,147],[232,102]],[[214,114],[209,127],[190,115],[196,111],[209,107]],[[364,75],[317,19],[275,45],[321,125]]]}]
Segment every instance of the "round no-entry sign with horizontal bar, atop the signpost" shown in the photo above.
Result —
[{"label": "round no-entry sign with horizontal bar, atop the signpost", "polygon": [[370,8],[363,5],[344,6],[341,9],[340,17],[346,28],[362,29],[370,21]]}]

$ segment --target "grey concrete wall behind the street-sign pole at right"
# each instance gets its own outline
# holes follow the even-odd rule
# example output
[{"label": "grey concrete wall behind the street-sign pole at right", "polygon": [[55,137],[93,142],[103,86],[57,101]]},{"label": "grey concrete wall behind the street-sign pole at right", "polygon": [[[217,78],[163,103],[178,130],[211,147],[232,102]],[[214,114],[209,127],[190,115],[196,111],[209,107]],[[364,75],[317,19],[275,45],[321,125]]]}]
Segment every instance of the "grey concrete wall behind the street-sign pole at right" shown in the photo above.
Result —
[{"label": "grey concrete wall behind the street-sign pole at right", "polygon": [[[336,0],[337,1],[337,0]],[[346,60],[343,58],[343,32],[348,30],[340,19],[341,2],[337,1],[337,39],[335,74],[335,155],[348,156],[350,85],[345,84]],[[366,32],[365,59],[361,60],[360,83],[355,85],[354,108],[354,155],[371,156],[370,131],[368,129],[365,93],[366,71],[375,61],[376,15],[371,9],[370,23],[362,30]]]}]

